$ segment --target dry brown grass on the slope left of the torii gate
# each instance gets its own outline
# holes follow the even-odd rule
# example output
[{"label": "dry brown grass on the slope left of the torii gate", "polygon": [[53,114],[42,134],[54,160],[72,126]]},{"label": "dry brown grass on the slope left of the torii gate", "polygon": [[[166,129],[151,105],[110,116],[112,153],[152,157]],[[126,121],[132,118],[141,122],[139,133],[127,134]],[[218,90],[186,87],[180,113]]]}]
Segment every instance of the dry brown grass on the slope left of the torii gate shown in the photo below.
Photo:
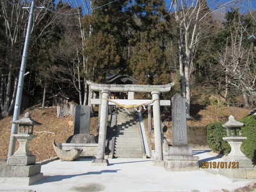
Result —
[{"label": "dry brown grass on the slope left of the torii gate", "polygon": [[[65,143],[67,138],[73,134],[73,121],[74,116],[67,116],[65,118],[56,117],[56,108],[35,108],[28,109],[24,113],[31,113],[31,118],[37,122],[42,123],[40,126],[35,126],[34,131],[47,131],[42,133],[34,132],[37,137],[29,144],[29,150],[36,156],[36,161],[42,161],[55,157],[56,154],[52,147],[52,141],[56,143]],[[24,116],[20,115],[20,118]],[[10,132],[12,124],[10,121],[12,117],[3,118],[0,120],[0,159],[6,159],[8,154],[8,146],[10,142]],[[92,134],[97,135],[95,127],[97,125],[97,118],[92,118],[91,129]],[[54,132],[54,134],[50,133]],[[16,148],[19,147],[17,143]]]}]

